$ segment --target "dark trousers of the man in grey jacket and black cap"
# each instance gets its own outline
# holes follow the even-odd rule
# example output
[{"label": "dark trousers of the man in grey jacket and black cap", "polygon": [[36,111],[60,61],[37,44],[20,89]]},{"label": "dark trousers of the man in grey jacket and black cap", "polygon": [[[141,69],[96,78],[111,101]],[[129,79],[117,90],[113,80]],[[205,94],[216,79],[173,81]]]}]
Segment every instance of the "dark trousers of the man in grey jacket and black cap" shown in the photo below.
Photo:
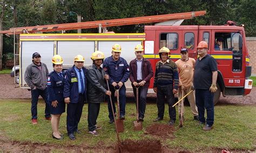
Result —
[{"label": "dark trousers of the man in grey jacket and black cap", "polygon": [[51,112],[50,112],[50,106],[48,101],[48,89],[45,88],[44,90],[41,89],[34,89],[31,91],[31,114],[32,114],[32,119],[37,119],[37,103],[38,103],[38,98],[39,95],[42,96],[45,102],[45,117],[51,117]]}]

